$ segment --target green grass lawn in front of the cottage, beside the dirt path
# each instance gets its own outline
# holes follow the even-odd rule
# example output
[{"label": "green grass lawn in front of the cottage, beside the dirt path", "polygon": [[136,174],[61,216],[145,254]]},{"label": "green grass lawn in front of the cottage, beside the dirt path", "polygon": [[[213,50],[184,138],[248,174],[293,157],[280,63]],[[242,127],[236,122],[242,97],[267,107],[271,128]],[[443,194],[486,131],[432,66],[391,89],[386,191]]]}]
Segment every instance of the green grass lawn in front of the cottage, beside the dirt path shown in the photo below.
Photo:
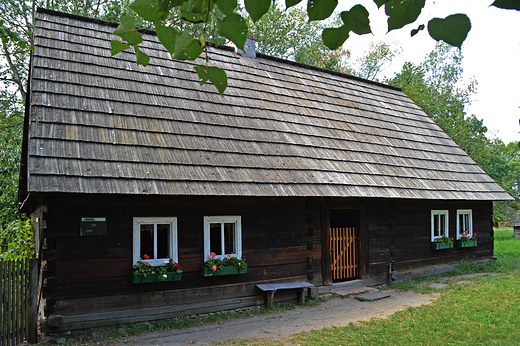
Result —
[{"label": "green grass lawn in front of the cottage, beside the dirt path", "polygon": [[[495,230],[498,261],[485,266],[466,263],[445,276],[475,272],[500,273],[450,283],[430,305],[409,308],[387,319],[372,319],[295,334],[278,340],[235,340],[226,345],[520,345],[520,240],[512,229]],[[427,281],[395,285],[428,292]],[[216,342],[215,345],[221,345]]]}]

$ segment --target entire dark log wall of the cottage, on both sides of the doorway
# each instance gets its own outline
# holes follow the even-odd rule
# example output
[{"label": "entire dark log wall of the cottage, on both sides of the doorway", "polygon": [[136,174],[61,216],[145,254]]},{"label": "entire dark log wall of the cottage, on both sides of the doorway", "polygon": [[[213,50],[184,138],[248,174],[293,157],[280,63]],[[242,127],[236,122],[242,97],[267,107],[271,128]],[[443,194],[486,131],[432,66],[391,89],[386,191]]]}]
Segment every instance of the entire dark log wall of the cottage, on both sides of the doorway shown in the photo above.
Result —
[{"label": "entire dark log wall of the cottage, on both sides of the doorway", "polygon": [[[386,276],[390,261],[395,262],[394,269],[399,272],[493,255],[491,202],[74,195],[53,195],[43,202],[47,211],[41,220],[46,225],[43,294],[47,315],[175,304],[179,304],[178,313],[182,314],[183,304],[190,302],[188,309],[215,299],[237,307],[255,304],[255,299],[259,304],[263,295],[256,289],[257,283],[330,284],[331,279],[326,277],[330,268],[322,266],[322,256],[330,249],[321,246],[326,238],[321,229],[329,224],[330,209],[359,210],[359,265],[363,279]],[[478,246],[431,250],[432,209],[449,210],[451,237],[455,236],[456,210],[472,209]],[[200,275],[205,215],[242,216],[247,274],[210,278]],[[108,234],[81,237],[80,219],[99,216],[107,218]],[[177,216],[182,281],[132,283],[135,216]],[[78,326],[81,323],[78,320]]]}]

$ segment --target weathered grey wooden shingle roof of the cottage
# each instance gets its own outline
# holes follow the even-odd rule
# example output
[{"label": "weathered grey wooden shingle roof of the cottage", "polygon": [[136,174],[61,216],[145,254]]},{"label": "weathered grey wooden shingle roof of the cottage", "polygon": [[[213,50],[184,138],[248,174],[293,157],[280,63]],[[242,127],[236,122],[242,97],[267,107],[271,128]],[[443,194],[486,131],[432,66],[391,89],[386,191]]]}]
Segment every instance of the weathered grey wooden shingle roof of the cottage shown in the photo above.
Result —
[{"label": "weathered grey wooden shingle roof of the cottage", "polygon": [[36,13],[28,192],[511,199],[401,90],[210,48],[221,97],[144,35],[110,57],[110,23]]}]

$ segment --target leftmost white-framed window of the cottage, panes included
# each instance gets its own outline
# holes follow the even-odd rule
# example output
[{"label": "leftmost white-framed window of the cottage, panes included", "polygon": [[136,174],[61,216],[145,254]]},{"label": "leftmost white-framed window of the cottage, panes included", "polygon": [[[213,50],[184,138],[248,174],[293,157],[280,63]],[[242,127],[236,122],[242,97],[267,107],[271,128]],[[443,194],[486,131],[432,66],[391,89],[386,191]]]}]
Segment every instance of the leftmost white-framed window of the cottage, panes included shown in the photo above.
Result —
[{"label": "leftmost white-framed window of the cottage, panes included", "polygon": [[178,262],[177,218],[134,217],[134,264],[146,259],[158,266],[170,258]]}]

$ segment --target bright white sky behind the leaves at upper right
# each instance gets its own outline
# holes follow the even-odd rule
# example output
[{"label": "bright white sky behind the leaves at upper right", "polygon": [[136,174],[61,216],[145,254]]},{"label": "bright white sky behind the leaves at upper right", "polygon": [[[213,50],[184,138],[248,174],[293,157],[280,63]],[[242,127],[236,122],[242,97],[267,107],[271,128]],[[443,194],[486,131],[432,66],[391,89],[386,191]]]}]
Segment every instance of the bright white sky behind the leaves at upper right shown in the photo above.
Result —
[{"label": "bright white sky behind the leaves at upper right", "polygon": [[384,71],[388,77],[400,71],[405,61],[421,63],[435,47],[436,41],[427,29],[410,37],[412,29],[427,25],[434,17],[466,13],[472,28],[462,45],[463,82],[471,78],[478,82],[466,113],[484,121],[488,137],[500,138],[505,143],[520,141],[520,11],[489,7],[493,0],[427,0],[416,22],[387,33],[384,7],[378,9],[373,0],[339,0],[339,9],[349,10],[358,3],[370,12],[373,35],[351,33],[343,47],[351,51],[351,59],[356,59],[371,42],[399,42],[403,50]]}]

